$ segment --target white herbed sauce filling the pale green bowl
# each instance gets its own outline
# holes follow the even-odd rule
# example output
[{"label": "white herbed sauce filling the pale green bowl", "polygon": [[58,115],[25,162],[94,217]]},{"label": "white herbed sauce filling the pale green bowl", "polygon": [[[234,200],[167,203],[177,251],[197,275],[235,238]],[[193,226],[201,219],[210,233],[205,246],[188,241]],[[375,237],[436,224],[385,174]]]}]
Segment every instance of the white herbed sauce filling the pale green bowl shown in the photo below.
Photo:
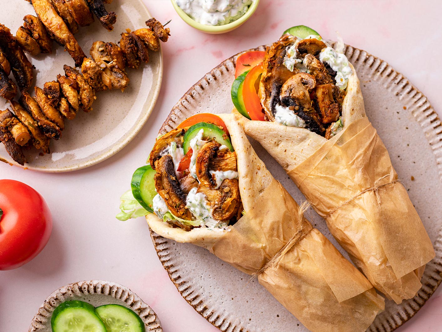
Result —
[{"label": "white herbed sauce filling the pale green bowl", "polygon": [[195,21],[205,25],[225,25],[243,16],[253,0],[176,0]]}]

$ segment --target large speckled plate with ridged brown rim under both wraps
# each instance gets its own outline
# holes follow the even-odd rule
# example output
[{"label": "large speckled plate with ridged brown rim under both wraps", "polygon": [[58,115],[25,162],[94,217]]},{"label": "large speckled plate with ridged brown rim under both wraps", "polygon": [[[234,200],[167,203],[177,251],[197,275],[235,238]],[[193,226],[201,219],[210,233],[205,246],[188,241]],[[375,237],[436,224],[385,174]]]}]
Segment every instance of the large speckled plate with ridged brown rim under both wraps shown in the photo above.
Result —
[{"label": "large speckled plate with ridged brown rim under both wraps", "polygon": [[[415,298],[400,305],[387,301],[385,311],[369,328],[372,332],[391,332],[413,317],[442,279],[442,126],[427,98],[387,62],[351,46],[347,46],[346,55],[361,80],[367,115],[387,146],[436,251]],[[195,113],[229,113],[236,57],[222,62],[195,84],[172,109],[161,131],[175,128]],[[252,145],[290,194],[298,202],[304,200],[276,161],[258,143]],[[307,216],[343,252],[324,220],[313,210]],[[221,331],[307,331],[256,280],[249,282],[248,275],[206,249],[175,243],[155,233],[151,236],[160,261],[183,298]]]}]

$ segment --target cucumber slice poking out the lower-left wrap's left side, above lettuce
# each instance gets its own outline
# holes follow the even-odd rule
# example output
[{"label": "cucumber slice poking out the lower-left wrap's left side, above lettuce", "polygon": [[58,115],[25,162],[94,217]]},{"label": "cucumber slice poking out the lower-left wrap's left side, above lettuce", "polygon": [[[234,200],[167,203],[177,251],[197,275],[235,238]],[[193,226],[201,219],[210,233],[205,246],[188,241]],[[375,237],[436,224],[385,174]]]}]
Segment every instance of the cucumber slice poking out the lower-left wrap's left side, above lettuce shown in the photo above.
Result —
[{"label": "cucumber slice poking out the lower-left wrap's left side, above lettuce", "polygon": [[153,182],[155,173],[150,165],[142,166],[133,172],[132,181],[130,182],[133,198],[149,212],[153,212],[152,200],[156,195],[155,183]]}]

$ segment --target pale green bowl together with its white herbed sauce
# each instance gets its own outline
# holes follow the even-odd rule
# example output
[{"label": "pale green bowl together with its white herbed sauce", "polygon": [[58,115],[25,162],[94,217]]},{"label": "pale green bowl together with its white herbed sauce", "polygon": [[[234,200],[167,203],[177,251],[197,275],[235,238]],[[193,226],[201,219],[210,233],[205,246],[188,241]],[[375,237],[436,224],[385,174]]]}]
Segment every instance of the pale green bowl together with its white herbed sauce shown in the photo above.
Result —
[{"label": "pale green bowl together with its white herbed sauce", "polygon": [[171,0],[178,15],[195,29],[209,34],[232,31],[247,21],[259,0]]}]

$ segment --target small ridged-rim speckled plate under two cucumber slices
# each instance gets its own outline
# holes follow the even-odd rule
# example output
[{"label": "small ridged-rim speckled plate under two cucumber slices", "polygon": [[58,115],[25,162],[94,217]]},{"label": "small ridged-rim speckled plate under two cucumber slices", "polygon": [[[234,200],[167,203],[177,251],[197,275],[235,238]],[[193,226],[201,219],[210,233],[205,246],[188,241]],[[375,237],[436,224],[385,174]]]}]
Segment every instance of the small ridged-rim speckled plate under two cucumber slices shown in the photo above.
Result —
[{"label": "small ridged-rim speckled plate under two cucumber slices", "polygon": [[80,281],[55,290],[38,309],[29,332],[51,332],[51,316],[61,302],[80,300],[98,307],[105,304],[119,304],[132,309],[145,324],[146,331],[163,332],[161,323],[149,305],[137,294],[118,283],[103,280]]}]

